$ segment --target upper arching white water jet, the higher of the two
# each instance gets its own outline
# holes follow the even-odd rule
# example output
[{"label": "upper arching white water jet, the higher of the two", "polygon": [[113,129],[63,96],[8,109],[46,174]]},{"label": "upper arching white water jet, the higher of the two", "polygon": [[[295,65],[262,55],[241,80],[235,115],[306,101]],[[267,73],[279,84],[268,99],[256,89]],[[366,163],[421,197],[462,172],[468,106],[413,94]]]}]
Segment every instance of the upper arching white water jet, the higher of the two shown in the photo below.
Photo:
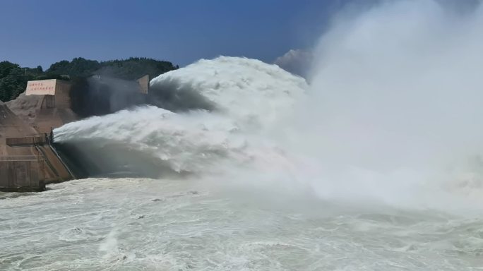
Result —
[{"label": "upper arching white water jet, the higher of the two", "polygon": [[194,90],[214,104],[215,110],[240,125],[263,129],[290,116],[292,105],[306,89],[303,78],[256,59],[220,56],[201,59],[177,71],[151,80],[150,87],[164,86],[182,95]]}]

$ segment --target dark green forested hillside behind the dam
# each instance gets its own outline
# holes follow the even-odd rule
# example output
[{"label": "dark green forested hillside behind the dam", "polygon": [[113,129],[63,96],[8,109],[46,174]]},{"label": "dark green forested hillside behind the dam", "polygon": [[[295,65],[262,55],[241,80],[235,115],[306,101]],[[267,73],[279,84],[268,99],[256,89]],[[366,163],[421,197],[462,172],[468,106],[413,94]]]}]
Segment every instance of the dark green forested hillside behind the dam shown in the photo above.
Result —
[{"label": "dark green forested hillside behind the dam", "polygon": [[72,61],[59,61],[47,71],[41,66],[23,68],[8,61],[0,62],[0,100],[7,102],[15,99],[25,90],[28,80],[83,78],[100,74],[126,80],[134,80],[149,74],[150,78],[177,69],[169,61],[131,57],[129,59],[95,61],[81,57]]}]

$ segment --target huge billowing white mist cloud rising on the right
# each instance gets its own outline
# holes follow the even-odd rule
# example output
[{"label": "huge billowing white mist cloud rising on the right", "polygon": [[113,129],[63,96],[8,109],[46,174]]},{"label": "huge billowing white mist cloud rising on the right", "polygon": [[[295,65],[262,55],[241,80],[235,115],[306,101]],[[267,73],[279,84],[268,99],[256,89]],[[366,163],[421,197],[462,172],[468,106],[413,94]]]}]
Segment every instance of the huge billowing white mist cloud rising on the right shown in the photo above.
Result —
[{"label": "huge billowing white mist cloud rising on the right", "polygon": [[297,126],[323,195],[441,207],[483,192],[482,15],[383,1],[334,20]]}]

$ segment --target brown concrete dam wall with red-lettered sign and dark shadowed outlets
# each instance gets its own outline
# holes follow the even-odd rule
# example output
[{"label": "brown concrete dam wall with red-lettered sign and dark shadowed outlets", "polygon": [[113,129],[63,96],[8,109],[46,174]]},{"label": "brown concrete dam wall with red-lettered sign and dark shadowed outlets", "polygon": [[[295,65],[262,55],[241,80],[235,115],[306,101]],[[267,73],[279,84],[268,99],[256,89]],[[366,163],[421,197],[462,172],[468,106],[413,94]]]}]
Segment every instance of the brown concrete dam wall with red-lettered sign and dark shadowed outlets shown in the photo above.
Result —
[{"label": "brown concrete dam wall with red-lettered sign and dark shadowed outlets", "polygon": [[55,144],[52,131],[83,117],[146,104],[149,77],[93,76],[81,82],[85,85],[29,81],[16,100],[0,101],[0,191],[42,191],[48,183],[106,172],[102,164],[85,159],[83,150]]}]

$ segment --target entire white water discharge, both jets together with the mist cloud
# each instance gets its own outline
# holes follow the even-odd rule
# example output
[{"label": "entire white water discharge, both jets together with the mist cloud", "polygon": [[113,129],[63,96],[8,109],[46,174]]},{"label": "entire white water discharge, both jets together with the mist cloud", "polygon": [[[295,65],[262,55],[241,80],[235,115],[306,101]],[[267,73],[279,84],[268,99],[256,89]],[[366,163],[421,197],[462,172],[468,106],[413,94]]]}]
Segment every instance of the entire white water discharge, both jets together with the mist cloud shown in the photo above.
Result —
[{"label": "entire white water discharge, both jets together with the mist cloud", "polygon": [[202,59],[150,86],[166,104],[203,109],[141,107],[68,124],[56,140],[81,140],[100,150],[92,159],[148,176],[169,169],[246,187],[285,184],[357,204],[475,205],[482,23],[481,8],[456,14],[436,1],[383,1],[334,20],[310,85],[254,59]]}]

